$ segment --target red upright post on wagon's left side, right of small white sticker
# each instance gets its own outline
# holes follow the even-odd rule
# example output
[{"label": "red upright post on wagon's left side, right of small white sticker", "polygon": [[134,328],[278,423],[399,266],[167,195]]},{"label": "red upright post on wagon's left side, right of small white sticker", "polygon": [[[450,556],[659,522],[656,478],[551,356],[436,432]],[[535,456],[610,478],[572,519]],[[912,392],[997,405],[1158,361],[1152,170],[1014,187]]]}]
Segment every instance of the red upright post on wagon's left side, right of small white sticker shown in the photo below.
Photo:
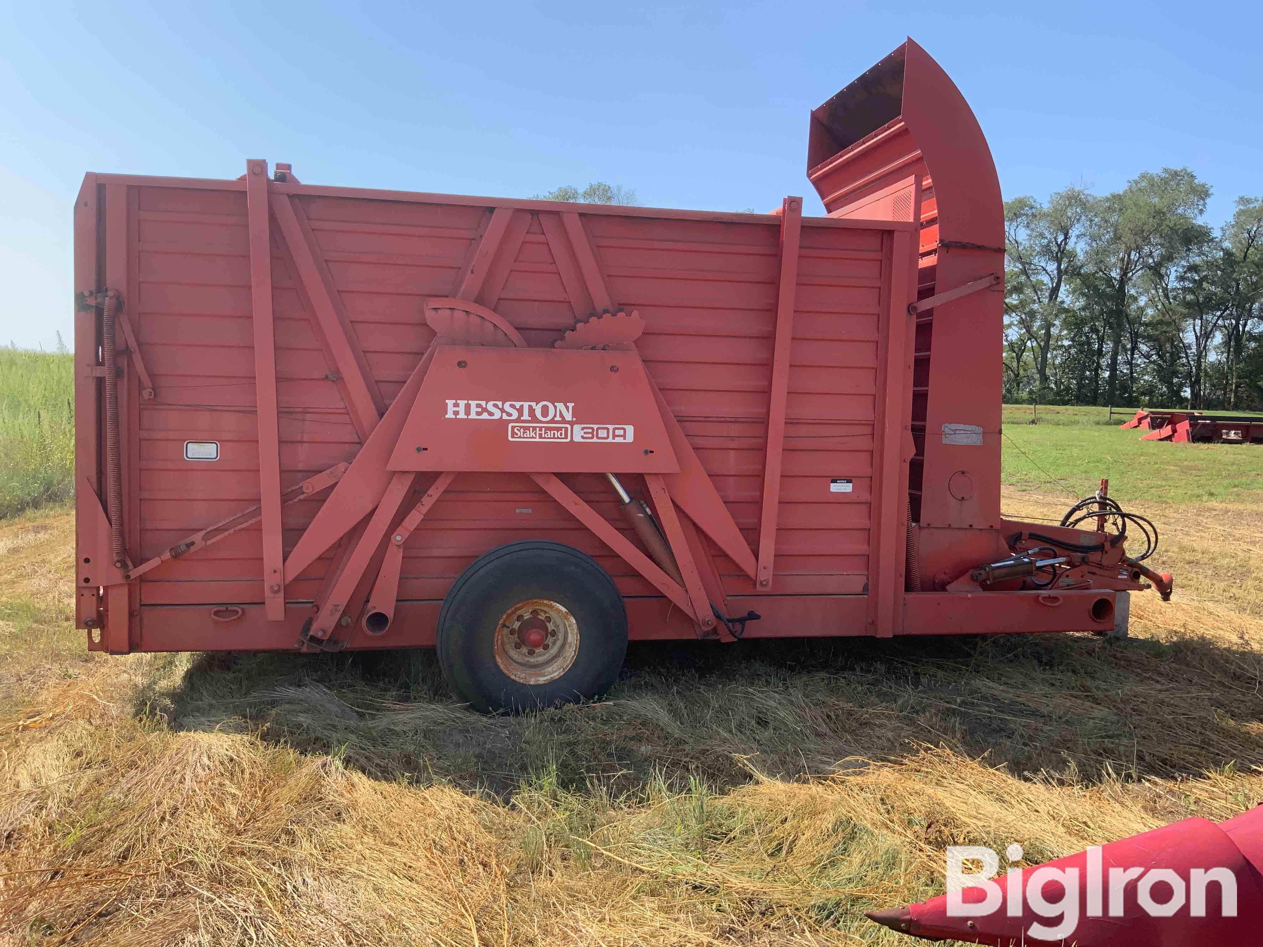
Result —
[{"label": "red upright post on wagon's left side, right of small white sticker", "polygon": [[259,509],[263,514],[263,605],[268,621],[285,617],[280,534],[280,429],[277,414],[277,327],[272,311],[272,221],[268,163],[245,163],[250,234],[250,304],[254,311],[254,388],[259,436]]}]

